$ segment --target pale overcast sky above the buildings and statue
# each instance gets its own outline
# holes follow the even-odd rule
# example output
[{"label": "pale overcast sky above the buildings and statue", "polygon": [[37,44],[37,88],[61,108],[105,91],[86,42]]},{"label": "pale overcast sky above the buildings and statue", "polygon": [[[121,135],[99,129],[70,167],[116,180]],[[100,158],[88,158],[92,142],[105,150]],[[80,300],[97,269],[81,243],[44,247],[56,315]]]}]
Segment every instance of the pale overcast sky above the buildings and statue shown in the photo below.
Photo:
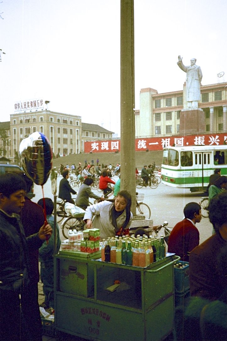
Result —
[{"label": "pale overcast sky above the buildings and statue", "polygon": [[[226,10],[225,0],[134,1],[136,109],[141,88],[183,89],[178,55],[197,58],[202,85],[225,80]],[[43,98],[120,133],[120,0],[2,0],[0,13],[0,121],[16,101]]]}]

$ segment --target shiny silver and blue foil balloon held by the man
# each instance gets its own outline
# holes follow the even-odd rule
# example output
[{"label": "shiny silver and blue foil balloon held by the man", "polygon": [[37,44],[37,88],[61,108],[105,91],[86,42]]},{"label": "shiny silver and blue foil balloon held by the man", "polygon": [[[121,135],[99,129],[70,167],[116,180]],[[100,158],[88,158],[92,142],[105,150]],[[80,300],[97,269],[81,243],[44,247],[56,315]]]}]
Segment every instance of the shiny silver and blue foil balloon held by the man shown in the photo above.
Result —
[{"label": "shiny silver and blue foil balloon held by the man", "polygon": [[36,185],[46,183],[52,168],[52,150],[47,137],[36,131],[24,138],[20,143],[19,156],[29,178]]}]

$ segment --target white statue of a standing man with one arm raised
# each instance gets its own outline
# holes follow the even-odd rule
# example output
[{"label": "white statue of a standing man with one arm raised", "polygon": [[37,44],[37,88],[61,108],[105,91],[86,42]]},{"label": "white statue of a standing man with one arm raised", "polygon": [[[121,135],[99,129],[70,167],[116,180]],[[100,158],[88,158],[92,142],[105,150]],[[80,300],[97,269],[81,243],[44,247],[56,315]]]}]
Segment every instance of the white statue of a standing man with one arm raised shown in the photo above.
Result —
[{"label": "white statue of a standing man with one arm raised", "polygon": [[198,110],[198,101],[201,100],[200,85],[202,80],[202,71],[200,66],[196,65],[196,59],[191,59],[191,65],[185,66],[181,56],[178,56],[178,66],[186,72],[186,96],[185,109]]}]

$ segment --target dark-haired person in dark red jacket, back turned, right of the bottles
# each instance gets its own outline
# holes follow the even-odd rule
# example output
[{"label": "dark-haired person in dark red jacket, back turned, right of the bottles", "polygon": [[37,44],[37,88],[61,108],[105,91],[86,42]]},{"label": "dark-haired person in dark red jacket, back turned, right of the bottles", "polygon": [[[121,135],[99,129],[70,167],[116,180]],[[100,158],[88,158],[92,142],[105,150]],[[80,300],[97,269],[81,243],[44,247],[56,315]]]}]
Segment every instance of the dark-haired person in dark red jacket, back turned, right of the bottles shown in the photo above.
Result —
[{"label": "dark-haired person in dark red jacket, back turned, right of the bottles", "polygon": [[189,252],[199,245],[199,231],[195,224],[202,218],[201,206],[197,203],[188,203],[184,207],[184,217],[170,233],[168,252],[176,253],[182,261],[188,262]]}]

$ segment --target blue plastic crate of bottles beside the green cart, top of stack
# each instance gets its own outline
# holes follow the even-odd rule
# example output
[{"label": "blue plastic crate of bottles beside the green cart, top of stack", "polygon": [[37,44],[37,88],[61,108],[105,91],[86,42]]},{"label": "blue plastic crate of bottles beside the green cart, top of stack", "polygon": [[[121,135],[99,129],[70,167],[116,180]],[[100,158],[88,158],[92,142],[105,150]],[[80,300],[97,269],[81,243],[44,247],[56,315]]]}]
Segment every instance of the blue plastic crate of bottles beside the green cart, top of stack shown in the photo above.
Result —
[{"label": "blue plastic crate of bottles beside the green cart, top of stack", "polygon": [[189,263],[178,261],[176,264],[185,265],[183,268],[174,268],[175,292],[183,293],[190,288],[189,283]]}]

